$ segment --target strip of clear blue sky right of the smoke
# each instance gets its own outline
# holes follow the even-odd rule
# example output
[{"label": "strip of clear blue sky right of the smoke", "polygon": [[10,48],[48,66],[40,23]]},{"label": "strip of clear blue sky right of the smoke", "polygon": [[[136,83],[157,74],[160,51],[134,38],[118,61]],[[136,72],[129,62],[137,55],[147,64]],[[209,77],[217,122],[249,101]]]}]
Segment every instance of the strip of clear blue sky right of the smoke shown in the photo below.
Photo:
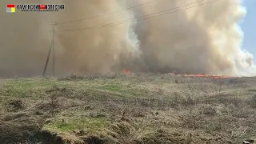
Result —
[{"label": "strip of clear blue sky right of the smoke", "polygon": [[246,6],[246,17],[241,23],[244,34],[242,48],[254,54],[256,63],[256,0],[244,0]]}]

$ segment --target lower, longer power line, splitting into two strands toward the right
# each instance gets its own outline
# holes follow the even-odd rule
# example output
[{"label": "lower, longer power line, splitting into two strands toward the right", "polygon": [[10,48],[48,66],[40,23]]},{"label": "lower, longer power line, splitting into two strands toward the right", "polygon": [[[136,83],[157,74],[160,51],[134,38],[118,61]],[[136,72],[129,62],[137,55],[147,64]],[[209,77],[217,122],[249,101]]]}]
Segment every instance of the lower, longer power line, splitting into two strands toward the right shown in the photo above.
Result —
[{"label": "lower, longer power line, splitting into two strands toward the right", "polygon": [[[200,0],[198,2],[202,2],[202,1],[204,1],[204,0]],[[219,0],[214,0],[214,1],[211,1],[211,2],[205,2],[205,3],[202,3],[202,4],[198,4],[198,6],[207,5],[207,4],[210,4],[210,3],[213,3],[213,2],[217,2],[217,1],[219,1]],[[186,4],[184,6],[189,6],[189,5],[198,3],[198,2],[192,2],[192,3]],[[182,10],[188,10],[188,9],[191,9],[191,8],[194,8],[194,7],[198,7],[198,6],[190,6],[190,7],[184,8],[182,10],[175,10],[175,9],[178,9],[178,8],[184,7],[184,6],[178,6],[178,7],[172,8],[172,9],[168,9],[168,10],[162,10],[162,11],[159,11],[159,12],[154,13],[154,14],[148,14],[148,15],[144,15],[144,16],[141,16],[141,17],[138,17],[138,18],[132,18],[132,19],[128,19],[128,20],[125,20],[125,21],[121,21],[121,22],[107,23],[103,26],[90,26],[90,27],[70,29],[70,30],[60,30],[60,31],[80,31],[80,30],[90,30],[90,29],[103,28],[103,27],[107,27],[107,26],[121,25],[121,24],[124,24],[124,23],[136,22],[136,21],[141,21],[141,20],[145,20],[145,19],[149,19],[149,18],[155,18],[155,17],[159,17],[159,16],[162,16],[162,15],[172,14],[172,13],[176,13],[176,12],[179,12],[179,11],[182,11]],[[170,11],[170,10],[174,10],[174,11]],[[167,11],[170,11],[170,12],[165,13],[165,14],[161,14],[161,13],[167,12]],[[158,14],[158,15],[155,15],[155,14]],[[148,17],[148,16],[150,16],[150,17]]]}]

